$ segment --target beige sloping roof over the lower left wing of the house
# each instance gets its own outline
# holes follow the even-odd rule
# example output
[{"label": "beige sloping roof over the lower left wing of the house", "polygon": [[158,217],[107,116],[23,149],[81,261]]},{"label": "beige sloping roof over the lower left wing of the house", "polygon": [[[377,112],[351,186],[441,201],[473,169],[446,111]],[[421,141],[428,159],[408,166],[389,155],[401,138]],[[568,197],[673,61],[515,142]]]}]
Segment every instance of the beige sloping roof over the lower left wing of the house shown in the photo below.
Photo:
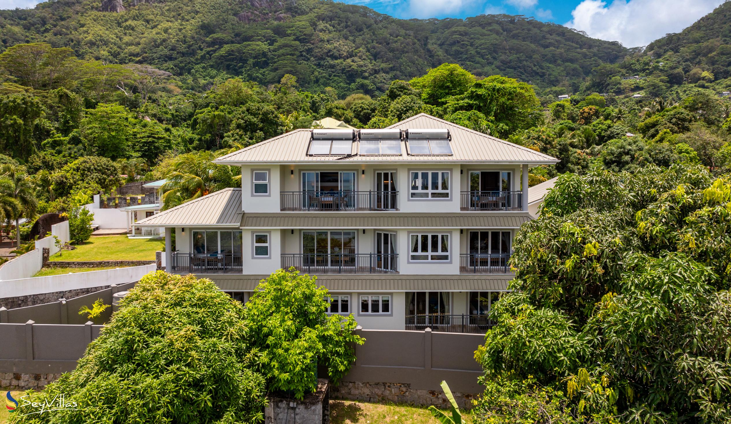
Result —
[{"label": "beige sloping roof over the lower left wing of the house", "polygon": [[238,227],[241,189],[223,189],[135,222],[135,227]]}]

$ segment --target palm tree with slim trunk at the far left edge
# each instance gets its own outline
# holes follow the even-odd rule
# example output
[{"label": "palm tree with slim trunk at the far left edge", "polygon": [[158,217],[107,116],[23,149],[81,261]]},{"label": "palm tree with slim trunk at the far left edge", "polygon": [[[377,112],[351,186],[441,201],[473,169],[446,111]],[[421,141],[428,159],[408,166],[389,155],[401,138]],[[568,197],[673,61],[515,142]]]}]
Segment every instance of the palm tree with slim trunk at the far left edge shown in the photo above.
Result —
[{"label": "palm tree with slim trunk at the far left edge", "polygon": [[20,247],[20,217],[31,219],[36,213],[37,200],[33,180],[23,167],[12,164],[4,164],[0,168],[0,175],[7,181],[1,187],[3,196],[14,200],[7,204],[7,211],[10,213],[6,217],[15,220],[15,245]]}]

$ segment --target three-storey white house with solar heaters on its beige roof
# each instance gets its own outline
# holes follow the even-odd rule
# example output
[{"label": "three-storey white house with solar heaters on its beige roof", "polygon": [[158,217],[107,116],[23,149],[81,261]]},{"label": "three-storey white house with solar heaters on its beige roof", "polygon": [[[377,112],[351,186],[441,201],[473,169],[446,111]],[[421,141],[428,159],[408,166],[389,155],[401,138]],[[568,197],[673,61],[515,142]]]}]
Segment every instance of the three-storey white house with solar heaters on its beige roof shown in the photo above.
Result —
[{"label": "three-storey white house with solar heaters on its beige roof", "polygon": [[169,272],[246,301],[294,268],[363,328],[484,332],[532,219],[529,167],[558,159],[421,113],[387,129],[295,129],[214,162],[241,167],[241,188],[134,224],[164,229]]}]

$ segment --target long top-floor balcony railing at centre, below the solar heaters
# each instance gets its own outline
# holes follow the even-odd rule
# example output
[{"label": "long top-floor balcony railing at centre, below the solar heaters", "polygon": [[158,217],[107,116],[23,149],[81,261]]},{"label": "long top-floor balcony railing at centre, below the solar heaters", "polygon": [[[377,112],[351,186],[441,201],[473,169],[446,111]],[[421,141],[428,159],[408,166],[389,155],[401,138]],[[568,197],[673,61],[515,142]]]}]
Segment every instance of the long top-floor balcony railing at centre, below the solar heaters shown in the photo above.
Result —
[{"label": "long top-floor balcony railing at centre, below the solar heaters", "polygon": [[281,192],[282,211],[395,211],[398,192]]}]

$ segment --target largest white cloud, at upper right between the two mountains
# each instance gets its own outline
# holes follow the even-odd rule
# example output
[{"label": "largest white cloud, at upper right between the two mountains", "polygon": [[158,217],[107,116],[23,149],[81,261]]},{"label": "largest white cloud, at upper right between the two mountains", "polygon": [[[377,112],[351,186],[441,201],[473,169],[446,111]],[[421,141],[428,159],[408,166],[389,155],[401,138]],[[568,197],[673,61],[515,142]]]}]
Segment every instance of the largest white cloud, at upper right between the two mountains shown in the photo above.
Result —
[{"label": "largest white cloud, at upper right between the two mountains", "polygon": [[650,44],[680,32],[724,0],[583,0],[565,25],[589,37],[618,41],[626,47]]}]

